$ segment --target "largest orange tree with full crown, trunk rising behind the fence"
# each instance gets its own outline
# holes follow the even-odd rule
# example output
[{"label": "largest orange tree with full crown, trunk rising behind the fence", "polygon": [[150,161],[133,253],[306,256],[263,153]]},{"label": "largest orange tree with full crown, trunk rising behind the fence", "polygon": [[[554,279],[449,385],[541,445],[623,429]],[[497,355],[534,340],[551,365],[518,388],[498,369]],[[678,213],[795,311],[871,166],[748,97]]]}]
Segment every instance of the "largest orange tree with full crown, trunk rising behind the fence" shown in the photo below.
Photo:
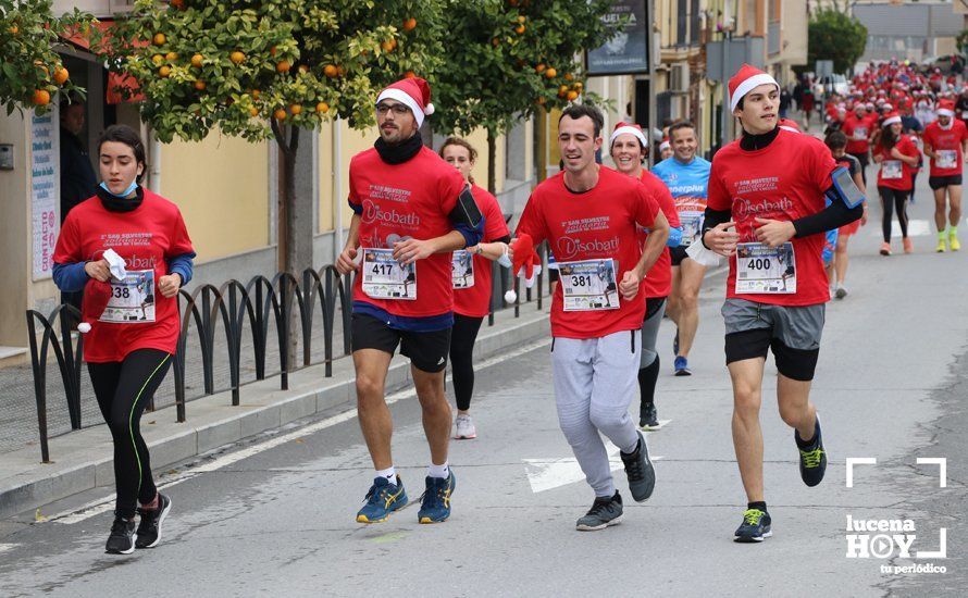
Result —
[{"label": "largest orange tree with full crown, trunk rising behind the fence", "polygon": [[[337,117],[370,126],[383,86],[432,73],[443,55],[442,3],[139,0],[116,27],[110,62],[139,82],[141,116],[163,142],[200,140],[213,128],[249,141],[274,138],[293,232],[300,132]],[[307,265],[296,263],[296,242],[291,234],[281,242],[291,273]]]}]

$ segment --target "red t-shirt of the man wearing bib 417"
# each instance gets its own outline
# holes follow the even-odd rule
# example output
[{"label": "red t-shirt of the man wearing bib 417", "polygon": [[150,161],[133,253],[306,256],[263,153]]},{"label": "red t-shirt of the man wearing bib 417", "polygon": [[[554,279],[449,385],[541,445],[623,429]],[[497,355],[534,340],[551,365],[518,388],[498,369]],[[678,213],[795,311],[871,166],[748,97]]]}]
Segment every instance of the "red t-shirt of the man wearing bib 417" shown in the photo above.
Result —
[{"label": "red t-shirt of the man wearing bib 417", "polygon": [[[362,208],[360,251],[393,249],[408,238],[433,239],[454,231],[449,214],[467,184],[457,170],[431,149],[402,164],[387,164],[375,148],[349,163],[349,202]],[[415,262],[417,299],[374,299],[363,292],[363,276],[353,284],[353,300],[405,317],[442,315],[454,307],[450,253]]]}]

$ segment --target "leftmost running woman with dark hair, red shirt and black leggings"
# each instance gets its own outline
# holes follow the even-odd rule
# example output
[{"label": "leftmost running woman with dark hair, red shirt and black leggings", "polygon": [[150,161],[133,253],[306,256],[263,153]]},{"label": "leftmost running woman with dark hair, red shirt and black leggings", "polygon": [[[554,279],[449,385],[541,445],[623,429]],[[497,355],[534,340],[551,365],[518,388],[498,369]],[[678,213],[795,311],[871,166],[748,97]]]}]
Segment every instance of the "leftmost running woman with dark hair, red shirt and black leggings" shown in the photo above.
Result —
[{"label": "leftmost running woman with dark hair, red shirt and black leggings", "polygon": [[[90,328],[84,359],[114,440],[117,498],[106,550],[128,555],[158,545],[172,507],[154,486],[139,421],[175,352],[176,296],[191,279],[195,251],[178,207],[139,185],[145,146],[134,129],[108,127],[98,141],[98,161],[102,183],[67,214],[53,278],[62,291],[85,290],[83,321]],[[107,285],[107,307],[91,313],[95,301],[88,297]]]}]

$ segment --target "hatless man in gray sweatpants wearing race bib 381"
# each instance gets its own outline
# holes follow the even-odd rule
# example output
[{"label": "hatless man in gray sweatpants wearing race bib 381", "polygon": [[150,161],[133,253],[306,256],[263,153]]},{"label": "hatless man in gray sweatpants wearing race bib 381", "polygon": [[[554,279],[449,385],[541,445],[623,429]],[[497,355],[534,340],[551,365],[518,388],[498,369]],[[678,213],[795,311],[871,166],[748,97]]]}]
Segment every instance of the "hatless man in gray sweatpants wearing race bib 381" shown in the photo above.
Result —
[{"label": "hatless man in gray sweatpants wearing race bib 381", "polygon": [[[655,470],[645,438],[629,416],[637,395],[645,273],[658,259],[669,223],[636,179],[595,163],[604,119],[569,107],[558,122],[564,170],[532,191],[518,235],[548,240],[559,269],[551,301],[551,364],[558,422],[595,490],[576,527],[603,530],[622,516],[601,440],[621,450],[632,498],[646,500]],[[637,227],[651,233],[643,249]]]}]

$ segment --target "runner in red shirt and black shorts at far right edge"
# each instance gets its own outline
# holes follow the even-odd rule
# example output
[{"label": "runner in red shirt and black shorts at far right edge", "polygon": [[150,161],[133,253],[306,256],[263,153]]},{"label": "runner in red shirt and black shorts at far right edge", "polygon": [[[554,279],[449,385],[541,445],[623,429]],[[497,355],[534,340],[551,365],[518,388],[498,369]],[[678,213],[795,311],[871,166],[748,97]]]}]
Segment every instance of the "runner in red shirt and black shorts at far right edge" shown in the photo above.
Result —
[{"label": "runner in red shirt and black shorts at far right edge", "polygon": [[[968,127],[964,121],[955,119],[952,100],[941,100],[936,113],[938,120],[928,125],[922,139],[924,155],[931,159],[928,185],[934,191],[935,251],[943,253],[947,249],[945,244],[952,251],[961,248],[958,221],[961,220],[961,164],[968,155]],[[945,214],[948,204],[951,210]]]}]

